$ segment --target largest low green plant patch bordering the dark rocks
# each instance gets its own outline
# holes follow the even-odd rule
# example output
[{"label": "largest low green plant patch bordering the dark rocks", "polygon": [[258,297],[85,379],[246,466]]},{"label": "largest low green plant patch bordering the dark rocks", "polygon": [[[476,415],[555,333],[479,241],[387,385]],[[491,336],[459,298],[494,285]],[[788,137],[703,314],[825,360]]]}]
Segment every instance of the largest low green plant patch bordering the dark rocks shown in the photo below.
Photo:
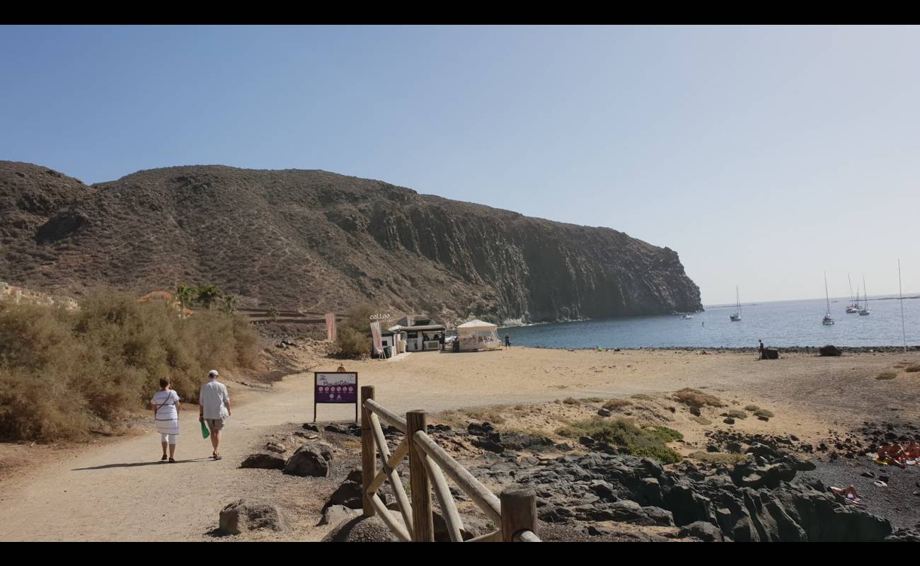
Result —
[{"label": "largest low green plant patch bordering the dark rocks", "polygon": [[662,464],[681,461],[681,455],[669,448],[667,443],[683,436],[663,426],[640,428],[627,419],[611,420],[595,417],[586,421],[571,422],[560,427],[556,433],[567,438],[591,436],[599,442],[626,447],[634,456],[655,458]]}]

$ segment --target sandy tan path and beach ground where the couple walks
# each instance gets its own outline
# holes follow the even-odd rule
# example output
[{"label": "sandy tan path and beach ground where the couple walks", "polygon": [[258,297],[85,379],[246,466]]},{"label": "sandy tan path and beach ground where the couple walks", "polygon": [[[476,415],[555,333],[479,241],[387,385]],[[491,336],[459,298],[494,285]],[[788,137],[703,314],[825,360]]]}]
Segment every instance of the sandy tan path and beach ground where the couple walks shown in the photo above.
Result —
[{"label": "sandy tan path and beach ground where the couple walks", "polygon": [[[891,381],[875,375],[916,353],[837,359],[790,356],[753,362],[750,354],[693,352],[565,352],[516,349],[481,354],[416,353],[398,362],[347,364],[361,385],[397,412],[430,411],[569,396],[618,397],[708,387],[742,402],[757,400],[795,414],[817,431],[864,415],[916,419],[920,374]],[[334,364],[330,364],[334,367]],[[906,387],[910,382],[913,385]],[[198,432],[197,412],[184,410],[178,463],[160,464],[159,438],[145,433],[88,447],[31,469],[0,486],[0,540],[201,540],[213,539],[219,511],[242,494],[271,491],[280,474],[239,469],[239,462],[272,427],[312,420],[312,374],[286,377],[235,407],[222,452]],[[892,396],[892,391],[900,391]],[[905,393],[909,391],[909,393]],[[350,420],[353,406],[320,406],[318,420]],[[802,422],[808,419],[808,422]],[[771,423],[784,425],[783,420]],[[793,422],[786,421],[791,426]],[[304,484],[298,484],[304,485]],[[284,489],[290,489],[284,488]],[[304,530],[288,536],[310,538]]]}]

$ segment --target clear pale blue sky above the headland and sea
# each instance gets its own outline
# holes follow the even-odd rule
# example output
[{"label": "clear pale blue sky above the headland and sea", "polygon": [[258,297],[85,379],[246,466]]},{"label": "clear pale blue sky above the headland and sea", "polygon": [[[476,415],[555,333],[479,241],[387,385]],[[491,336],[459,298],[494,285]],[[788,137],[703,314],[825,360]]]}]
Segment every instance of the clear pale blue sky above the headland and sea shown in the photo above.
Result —
[{"label": "clear pale blue sky above the headland and sea", "polygon": [[676,249],[706,304],[920,291],[918,28],[0,27],[0,158],[319,168]]}]

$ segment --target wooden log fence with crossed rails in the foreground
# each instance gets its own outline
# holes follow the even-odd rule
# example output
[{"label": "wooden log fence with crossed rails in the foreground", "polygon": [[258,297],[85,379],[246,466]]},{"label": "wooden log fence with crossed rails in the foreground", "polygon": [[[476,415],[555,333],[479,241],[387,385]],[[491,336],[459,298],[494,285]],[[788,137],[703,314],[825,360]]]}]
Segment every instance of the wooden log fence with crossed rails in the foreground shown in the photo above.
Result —
[{"label": "wooden log fence with crossed rails in the foreground", "polygon": [[[393,452],[386,445],[381,422],[403,433],[402,441]],[[361,464],[363,480],[363,514],[377,514],[391,531],[403,541],[433,541],[434,521],[431,513],[431,492],[441,506],[444,523],[452,542],[540,542],[536,536],[536,496],[532,490],[507,490],[500,497],[474,478],[469,471],[428,435],[428,417],[423,410],[410,410],[403,419],[386,410],[374,400],[374,386],[361,388]],[[378,471],[376,455],[380,455]],[[411,502],[397,467],[408,456]],[[477,504],[495,530],[464,541],[463,521],[457,512],[444,475]],[[377,491],[389,481],[396,495],[402,523],[390,514]]]}]

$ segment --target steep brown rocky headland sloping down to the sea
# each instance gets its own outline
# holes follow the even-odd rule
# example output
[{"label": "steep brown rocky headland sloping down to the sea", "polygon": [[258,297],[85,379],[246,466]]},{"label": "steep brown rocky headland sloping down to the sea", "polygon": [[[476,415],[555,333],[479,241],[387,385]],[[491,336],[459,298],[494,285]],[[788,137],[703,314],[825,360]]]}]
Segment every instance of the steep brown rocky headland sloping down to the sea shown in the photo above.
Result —
[{"label": "steep brown rocky headland sloping down to the sea", "polygon": [[46,171],[0,162],[12,195],[0,201],[0,278],[76,292],[208,282],[259,305],[371,302],[445,321],[700,308],[672,249],[609,228],[325,171],[168,167],[93,187]]}]

